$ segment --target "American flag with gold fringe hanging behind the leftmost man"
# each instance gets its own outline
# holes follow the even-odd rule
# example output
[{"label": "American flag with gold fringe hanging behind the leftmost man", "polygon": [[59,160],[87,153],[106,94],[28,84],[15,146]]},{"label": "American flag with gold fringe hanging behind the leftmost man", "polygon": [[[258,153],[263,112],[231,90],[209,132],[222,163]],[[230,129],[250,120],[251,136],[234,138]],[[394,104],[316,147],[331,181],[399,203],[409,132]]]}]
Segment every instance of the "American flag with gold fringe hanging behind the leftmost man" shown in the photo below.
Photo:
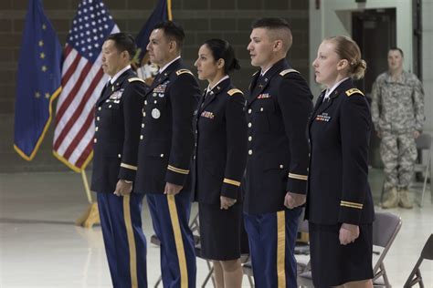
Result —
[{"label": "American flag with gold fringe hanging behind the leftmost man", "polygon": [[101,68],[105,38],[119,32],[100,0],[82,0],[63,51],[63,90],[56,108],[54,155],[77,172],[92,157],[94,105],[108,77]]}]

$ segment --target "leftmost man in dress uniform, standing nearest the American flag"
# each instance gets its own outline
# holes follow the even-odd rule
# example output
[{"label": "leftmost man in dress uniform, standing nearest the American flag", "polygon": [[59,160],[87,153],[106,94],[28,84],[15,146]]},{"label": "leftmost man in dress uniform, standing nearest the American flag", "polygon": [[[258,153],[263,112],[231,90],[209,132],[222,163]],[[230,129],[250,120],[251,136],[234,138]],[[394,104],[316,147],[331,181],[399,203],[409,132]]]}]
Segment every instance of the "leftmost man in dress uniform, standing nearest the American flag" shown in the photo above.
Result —
[{"label": "leftmost man in dress uniform, standing nearest the American flag", "polygon": [[102,69],[110,76],[96,103],[91,190],[97,191],[100,225],[114,287],[147,287],[143,194],[132,192],[144,81],[132,71],[136,46],[124,33],[108,36]]}]

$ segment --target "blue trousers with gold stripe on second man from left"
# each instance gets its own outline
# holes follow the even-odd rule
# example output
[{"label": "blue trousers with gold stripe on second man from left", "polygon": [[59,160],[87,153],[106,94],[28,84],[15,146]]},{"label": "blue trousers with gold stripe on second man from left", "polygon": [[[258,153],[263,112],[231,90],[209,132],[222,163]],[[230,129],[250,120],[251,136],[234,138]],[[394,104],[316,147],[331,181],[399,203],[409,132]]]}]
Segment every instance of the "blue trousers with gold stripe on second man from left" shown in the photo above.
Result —
[{"label": "blue trousers with gold stripe on second man from left", "polygon": [[146,194],[153,230],[161,241],[164,288],[195,288],[193,233],[189,229],[190,194]]}]

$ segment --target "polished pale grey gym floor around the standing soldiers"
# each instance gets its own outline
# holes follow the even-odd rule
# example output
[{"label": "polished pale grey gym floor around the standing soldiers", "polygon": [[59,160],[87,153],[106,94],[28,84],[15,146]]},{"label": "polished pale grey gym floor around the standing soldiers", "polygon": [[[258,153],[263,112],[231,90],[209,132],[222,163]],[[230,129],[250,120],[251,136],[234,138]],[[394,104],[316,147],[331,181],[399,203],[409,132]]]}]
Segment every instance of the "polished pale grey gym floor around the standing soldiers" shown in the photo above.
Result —
[{"label": "polished pale grey gym floor around the standing soldiers", "polygon": [[[380,200],[382,178],[380,170],[371,170],[375,203]],[[420,185],[417,183],[412,188],[414,209],[389,210],[403,221],[385,258],[385,269],[393,287],[402,287],[406,282],[433,232],[429,186],[424,205],[419,207]],[[111,287],[100,226],[85,229],[74,225],[87,207],[79,174],[0,174],[0,287]],[[376,207],[376,211],[382,210]],[[192,214],[195,213],[194,204]],[[146,206],[143,229],[149,242],[153,230]],[[147,262],[149,287],[153,287],[160,275],[159,249],[150,242]],[[433,287],[433,262],[425,261],[421,273],[426,287]],[[197,287],[206,274],[206,262],[197,259]],[[243,286],[249,287],[246,277]],[[212,283],[206,287],[212,287]]]}]

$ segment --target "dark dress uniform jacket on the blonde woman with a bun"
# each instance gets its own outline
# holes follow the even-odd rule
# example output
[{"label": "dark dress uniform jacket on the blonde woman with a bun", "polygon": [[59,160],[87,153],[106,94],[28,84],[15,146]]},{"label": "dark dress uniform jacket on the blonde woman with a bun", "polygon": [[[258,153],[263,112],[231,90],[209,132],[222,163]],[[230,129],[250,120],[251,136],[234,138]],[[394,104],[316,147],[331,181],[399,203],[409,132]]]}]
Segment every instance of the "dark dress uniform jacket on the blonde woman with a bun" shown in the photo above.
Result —
[{"label": "dark dress uniform jacket on the blonde woman with a bun", "polygon": [[329,100],[323,102],[323,97],[324,92],[309,121],[306,218],[330,225],[371,223],[374,206],[367,180],[370,108],[350,78],[335,88]]}]

